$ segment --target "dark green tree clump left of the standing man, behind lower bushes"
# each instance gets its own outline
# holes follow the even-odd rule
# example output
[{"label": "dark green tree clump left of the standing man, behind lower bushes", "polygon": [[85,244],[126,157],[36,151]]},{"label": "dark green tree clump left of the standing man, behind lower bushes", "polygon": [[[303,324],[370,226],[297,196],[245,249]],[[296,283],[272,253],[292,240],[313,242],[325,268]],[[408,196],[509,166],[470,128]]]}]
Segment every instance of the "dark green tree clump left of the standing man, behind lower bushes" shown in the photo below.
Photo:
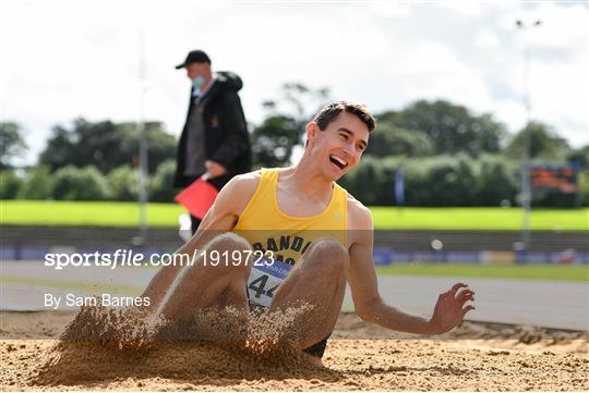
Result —
[{"label": "dark green tree clump left of the standing man, behind lower bushes", "polygon": [[[148,171],[154,173],[159,163],[176,157],[176,139],[164,131],[160,122],[145,123],[145,135]],[[65,165],[95,165],[100,172],[108,173],[115,168],[133,164],[139,157],[139,146],[135,123],[91,123],[77,119],[71,130],[61,125],[53,127],[39,162],[52,171]]]}]

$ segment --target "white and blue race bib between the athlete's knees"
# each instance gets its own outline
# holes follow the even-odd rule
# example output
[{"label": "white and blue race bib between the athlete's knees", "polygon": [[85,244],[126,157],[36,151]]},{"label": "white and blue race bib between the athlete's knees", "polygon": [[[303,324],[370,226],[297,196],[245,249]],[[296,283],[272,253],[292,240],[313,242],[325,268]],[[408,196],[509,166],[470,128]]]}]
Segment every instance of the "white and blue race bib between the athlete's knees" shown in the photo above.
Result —
[{"label": "white and blue race bib between the athlete's knees", "polygon": [[278,286],[292,270],[292,266],[272,258],[260,258],[252,266],[248,279],[248,298],[262,307],[269,307]]}]

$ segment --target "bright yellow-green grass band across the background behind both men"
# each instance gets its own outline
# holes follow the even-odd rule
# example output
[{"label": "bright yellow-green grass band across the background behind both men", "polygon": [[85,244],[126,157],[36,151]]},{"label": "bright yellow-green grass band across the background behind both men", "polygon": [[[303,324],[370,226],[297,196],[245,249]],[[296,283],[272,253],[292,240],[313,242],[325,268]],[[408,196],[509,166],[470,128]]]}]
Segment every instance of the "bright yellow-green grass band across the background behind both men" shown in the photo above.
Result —
[{"label": "bright yellow-green grass band across the background behind both men", "polygon": [[[390,208],[372,207],[381,230],[519,230],[517,208]],[[149,204],[151,226],[178,226],[185,210],[176,204]],[[139,205],[117,201],[2,200],[1,223],[15,225],[137,226]],[[589,231],[589,209],[533,210],[532,230]]]}]

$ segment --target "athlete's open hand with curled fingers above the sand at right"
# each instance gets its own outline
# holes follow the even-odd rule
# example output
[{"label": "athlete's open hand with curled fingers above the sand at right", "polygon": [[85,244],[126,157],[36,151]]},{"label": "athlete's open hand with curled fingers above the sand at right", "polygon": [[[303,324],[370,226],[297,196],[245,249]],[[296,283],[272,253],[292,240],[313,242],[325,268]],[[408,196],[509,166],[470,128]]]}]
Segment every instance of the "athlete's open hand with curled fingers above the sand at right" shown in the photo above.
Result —
[{"label": "athlete's open hand with curled fingers above the sand at right", "polygon": [[[461,291],[458,291],[462,288]],[[468,288],[467,284],[454,284],[452,290],[444,292],[437,298],[434,314],[430,320],[430,327],[434,334],[442,334],[462,321],[465,315],[474,309],[474,306],[465,304],[474,302],[474,292]]]}]

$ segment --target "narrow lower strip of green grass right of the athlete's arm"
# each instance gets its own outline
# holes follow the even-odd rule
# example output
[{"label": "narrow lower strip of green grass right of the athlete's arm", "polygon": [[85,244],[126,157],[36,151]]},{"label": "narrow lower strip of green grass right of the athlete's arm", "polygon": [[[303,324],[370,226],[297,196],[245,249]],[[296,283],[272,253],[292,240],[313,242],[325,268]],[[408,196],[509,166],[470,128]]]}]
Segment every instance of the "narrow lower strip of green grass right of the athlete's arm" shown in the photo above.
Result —
[{"label": "narrow lower strip of green grass right of the athlete's arm", "polygon": [[589,267],[579,265],[393,265],[377,267],[376,272],[385,275],[589,281]]}]

